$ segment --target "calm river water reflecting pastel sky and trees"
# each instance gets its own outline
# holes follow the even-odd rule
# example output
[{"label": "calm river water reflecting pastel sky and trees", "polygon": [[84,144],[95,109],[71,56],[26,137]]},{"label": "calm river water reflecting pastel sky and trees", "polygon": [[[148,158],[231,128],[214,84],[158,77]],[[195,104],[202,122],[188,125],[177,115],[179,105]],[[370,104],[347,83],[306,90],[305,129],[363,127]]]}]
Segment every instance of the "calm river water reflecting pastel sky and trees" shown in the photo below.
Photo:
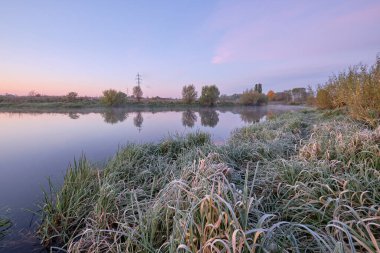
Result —
[{"label": "calm river water reflecting pastel sky and trees", "polygon": [[0,215],[13,227],[0,252],[43,252],[34,236],[37,203],[50,177],[62,183],[74,158],[85,154],[103,164],[128,142],[157,142],[169,134],[209,132],[216,143],[232,130],[265,120],[268,114],[300,107],[265,107],[70,113],[0,112]]}]

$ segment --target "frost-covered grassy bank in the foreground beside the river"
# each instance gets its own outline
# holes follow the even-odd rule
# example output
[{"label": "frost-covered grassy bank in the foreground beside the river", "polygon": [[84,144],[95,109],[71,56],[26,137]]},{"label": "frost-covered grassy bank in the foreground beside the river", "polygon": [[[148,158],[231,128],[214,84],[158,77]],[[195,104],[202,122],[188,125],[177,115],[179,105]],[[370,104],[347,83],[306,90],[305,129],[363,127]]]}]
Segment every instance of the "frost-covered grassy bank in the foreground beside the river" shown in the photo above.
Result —
[{"label": "frost-covered grassy bank in the foreground beside the river", "polygon": [[39,234],[69,252],[380,251],[380,128],[287,113],[232,133],[82,158],[46,193]]}]

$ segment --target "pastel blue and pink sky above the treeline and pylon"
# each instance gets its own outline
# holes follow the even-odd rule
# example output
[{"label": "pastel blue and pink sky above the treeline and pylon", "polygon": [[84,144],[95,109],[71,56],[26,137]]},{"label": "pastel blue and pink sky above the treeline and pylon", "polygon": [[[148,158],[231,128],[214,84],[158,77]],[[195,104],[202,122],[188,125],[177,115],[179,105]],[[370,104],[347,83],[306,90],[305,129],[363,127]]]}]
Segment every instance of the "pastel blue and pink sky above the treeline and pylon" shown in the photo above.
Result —
[{"label": "pastel blue and pink sky above the treeline and pylon", "polygon": [[378,0],[0,0],[0,94],[323,84],[380,53]]}]

